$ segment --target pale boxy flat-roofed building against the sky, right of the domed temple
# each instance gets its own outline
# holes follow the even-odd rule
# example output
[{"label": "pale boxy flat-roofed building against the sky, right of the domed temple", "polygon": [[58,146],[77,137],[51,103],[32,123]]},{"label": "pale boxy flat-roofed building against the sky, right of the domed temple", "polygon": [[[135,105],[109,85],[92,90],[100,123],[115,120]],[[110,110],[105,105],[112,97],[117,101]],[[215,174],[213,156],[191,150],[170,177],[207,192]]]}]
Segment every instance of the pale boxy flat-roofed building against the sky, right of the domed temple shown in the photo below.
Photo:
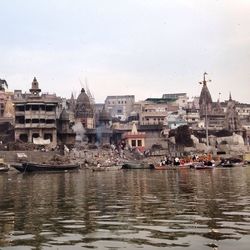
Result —
[{"label": "pale boxy flat-roofed building against the sky, right of the domed temple", "polygon": [[134,95],[107,96],[105,100],[105,110],[109,112],[112,117],[125,121],[133,111],[134,103]]}]

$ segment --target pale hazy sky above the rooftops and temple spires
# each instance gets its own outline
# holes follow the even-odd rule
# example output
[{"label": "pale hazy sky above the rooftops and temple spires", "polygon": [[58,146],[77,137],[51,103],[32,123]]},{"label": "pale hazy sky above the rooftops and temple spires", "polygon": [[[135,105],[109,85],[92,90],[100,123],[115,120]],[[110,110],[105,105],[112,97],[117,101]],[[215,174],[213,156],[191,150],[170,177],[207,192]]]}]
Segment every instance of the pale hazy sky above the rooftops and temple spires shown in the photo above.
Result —
[{"label": "pale hazy sky above the rooftops and temple spires", "polygon": [[[250,0],[0,0],[0,78],[97,103],[201,91],[250,103]],[[221,93],[221,94],[220,94]]]}]

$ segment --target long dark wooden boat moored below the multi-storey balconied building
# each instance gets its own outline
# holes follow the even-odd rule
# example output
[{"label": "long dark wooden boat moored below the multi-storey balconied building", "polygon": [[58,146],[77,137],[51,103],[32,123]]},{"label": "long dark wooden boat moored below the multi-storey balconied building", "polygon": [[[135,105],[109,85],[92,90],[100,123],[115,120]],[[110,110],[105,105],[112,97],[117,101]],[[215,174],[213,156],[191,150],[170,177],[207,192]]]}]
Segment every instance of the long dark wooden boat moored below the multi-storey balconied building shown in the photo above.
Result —
[{"label": "long dark wooden boat moored below the multi-storey balconied building", "polygon": [[58,172],[58,171],[70,171],[80,168],[79,164],[40,164],[33,162],[24,162],[22,164],[13,164],[15,169],[21,173],[25,172]]}]

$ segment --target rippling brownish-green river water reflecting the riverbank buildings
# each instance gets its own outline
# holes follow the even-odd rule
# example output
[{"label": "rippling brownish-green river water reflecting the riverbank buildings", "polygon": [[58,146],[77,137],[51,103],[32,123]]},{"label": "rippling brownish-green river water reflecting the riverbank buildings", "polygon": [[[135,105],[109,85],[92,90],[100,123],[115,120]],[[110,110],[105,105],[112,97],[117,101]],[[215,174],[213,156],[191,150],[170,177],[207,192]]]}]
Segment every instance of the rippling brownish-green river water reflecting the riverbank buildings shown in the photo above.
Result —
[{"label": "rippling brownish-green river water reflecting the riverbank buildings", "polygon": [[250,166],[0,175],[0,249],[250,249]]}]

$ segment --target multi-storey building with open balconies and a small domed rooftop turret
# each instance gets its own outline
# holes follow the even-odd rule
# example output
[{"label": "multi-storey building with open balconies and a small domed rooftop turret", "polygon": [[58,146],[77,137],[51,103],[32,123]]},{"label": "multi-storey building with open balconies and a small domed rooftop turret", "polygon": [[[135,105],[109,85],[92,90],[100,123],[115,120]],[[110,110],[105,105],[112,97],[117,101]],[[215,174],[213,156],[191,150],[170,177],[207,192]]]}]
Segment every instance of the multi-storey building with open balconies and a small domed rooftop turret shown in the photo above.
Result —
[{"label": "multi-storey building with open balconies and a small domed rooftop turret", "polygon": [[15,92],[15,140],[33,143],[34,139],[50,140],[57,144],[57,127],[59,98],[56,95],[42,94],[39,83],[34,78],[30,93]]}]

